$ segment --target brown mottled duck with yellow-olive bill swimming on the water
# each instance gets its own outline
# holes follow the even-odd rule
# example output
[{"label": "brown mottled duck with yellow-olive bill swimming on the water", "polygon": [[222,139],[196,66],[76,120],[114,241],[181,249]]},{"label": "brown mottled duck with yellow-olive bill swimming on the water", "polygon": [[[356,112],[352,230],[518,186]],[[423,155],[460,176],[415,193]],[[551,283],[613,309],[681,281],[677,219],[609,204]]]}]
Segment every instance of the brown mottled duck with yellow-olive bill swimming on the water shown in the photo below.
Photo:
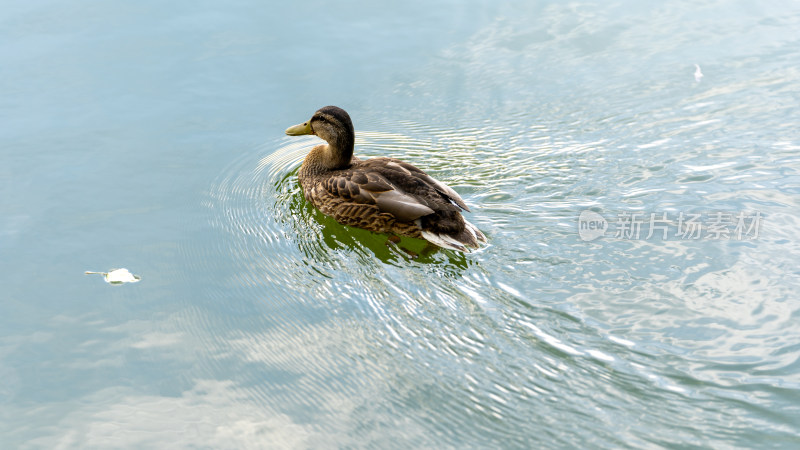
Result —
[{"label": "brown mottled duck with yellow-olive bill swimming on the water", "polygon": [[446,184],[399,159],[354,156],[355,129],[342,108],[320,108],[286,134],[326,142],[308,152],[297,177],[305,199],[340,224],[465,253],[487,242],[461,215],[469,208]]}]

